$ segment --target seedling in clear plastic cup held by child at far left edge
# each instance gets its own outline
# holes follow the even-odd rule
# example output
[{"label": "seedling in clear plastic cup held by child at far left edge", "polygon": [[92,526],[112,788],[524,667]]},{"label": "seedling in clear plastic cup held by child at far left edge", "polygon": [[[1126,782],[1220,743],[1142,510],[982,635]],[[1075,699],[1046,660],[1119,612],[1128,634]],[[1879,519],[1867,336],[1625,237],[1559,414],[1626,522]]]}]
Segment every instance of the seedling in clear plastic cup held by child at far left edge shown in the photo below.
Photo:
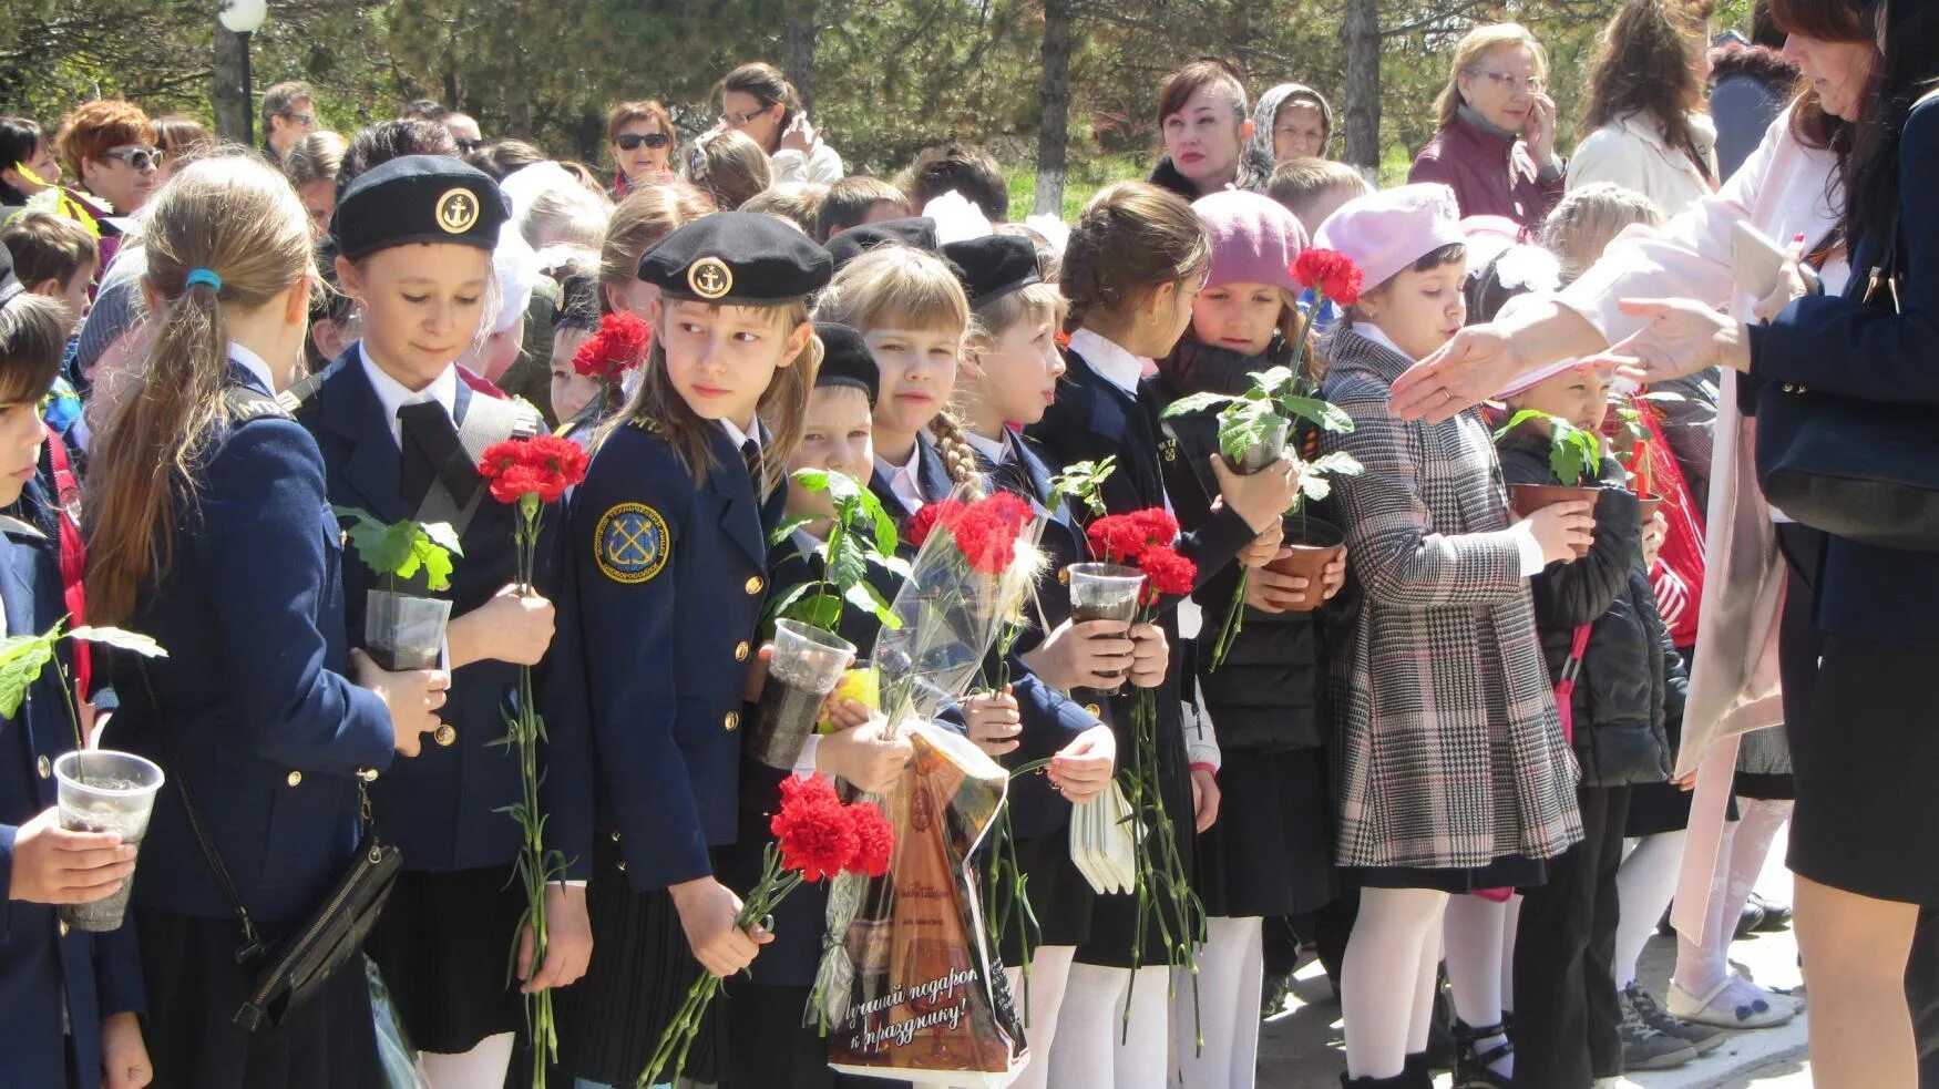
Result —
[{"label": "seedling in clear plastic cup held by child at far left edge", "polygon": [[[27,690],[48,663],[60,674],[60,696],[68,701],[68,725],[74,727],[74,752],[60,754],[52,773],[60,827],[70,831],[112,831],[128,847],[140,847],[147,835],[147,818],[161,791],[161,767],[132,752],[87,748],[81,736],[81,715],[74,703],[74,680],[54,653],[60,639],[101,643],[142,657],[169,657],[161,643],[120,628],[66,628],[60,620],[39,636],[0,639],[0,717],[14,719],[27,701]],[[58,917],[76,930],[116,930],[128,911],[134,874],[112,895],[93,903],[60,905]]]}]

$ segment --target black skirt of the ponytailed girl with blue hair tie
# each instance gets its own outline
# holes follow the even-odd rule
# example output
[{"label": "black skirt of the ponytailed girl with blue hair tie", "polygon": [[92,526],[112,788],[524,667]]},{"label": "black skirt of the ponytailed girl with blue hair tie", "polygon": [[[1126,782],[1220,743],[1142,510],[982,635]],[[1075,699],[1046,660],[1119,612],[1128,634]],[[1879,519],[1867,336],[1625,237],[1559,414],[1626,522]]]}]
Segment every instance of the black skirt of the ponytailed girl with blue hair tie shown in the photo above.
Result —
[{"label": "black skirt of the ponytailed girl with blue hair tie", "polygon": [[[147,977],[142,1035],[155,1089],[382,1089],[363,957],[347,961],[318,994],[275,1027],[235,1023],[258,965],[237,965],[235,918],[134,909]],[[264,928],[275,940],[277,928]]]}]

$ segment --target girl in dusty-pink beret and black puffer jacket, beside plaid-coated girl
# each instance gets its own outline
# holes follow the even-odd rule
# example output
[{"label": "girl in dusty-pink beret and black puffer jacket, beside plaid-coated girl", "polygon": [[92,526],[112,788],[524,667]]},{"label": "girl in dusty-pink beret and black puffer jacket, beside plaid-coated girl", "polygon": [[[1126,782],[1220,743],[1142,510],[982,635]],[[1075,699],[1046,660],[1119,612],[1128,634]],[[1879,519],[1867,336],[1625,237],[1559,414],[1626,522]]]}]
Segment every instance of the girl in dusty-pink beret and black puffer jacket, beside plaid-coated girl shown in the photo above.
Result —
[{"label": "girl in dusty-pink beret and black puffer jacket, beside plaid-coated girl", "polygon": [[[1212,242],[1212,264],[1204,291],[1192,298],[1185,335],[1146,382],[1160,411],[1187,393],[1245,393],[1253,374],[1301,364],[1293,343],[1299,283],[1291,273],[1293,258],[1307,246],[1299,219],[1270,198],[1241,190],[1204,196],[1192,211]],[[1177,457],[1163,461],[1165,494],[1179,523],[1196,529],[1212,519],[1218,494],[1208,467],[1218,453],[1216,415],[1191,413],[1163,420],[1161,428],[1163,440],[1177,444]],[[1307,440],[1309,428],[1301,428],[1293,450]],[[1344,583],[1340,558],[1324,574],[1324,595],[1330,599]],[[1179,1060],[1185,1083],[1208,1089],[1253,1085],[1266,917],[1307,915],[1334,899],[1320,694],[1326,634],[1338,610],[1289,610],[1287,601],[1301,597],[1307,579],[1253,570],[1245,583],[1245,624],[1224,663],[1212,669],[1237,587],[1235,564],[1192,595],[1200,608],[1196,684],[1210,717],[1191,736],[1191,771],[1206,802],[1196,814],[1196,884],[1210,920],[1198,951],[1204,1050],[1181,1046]],[[1189,1044],[1191,996],[1175,1002],[1173,1013],[1175,1039]]]}]

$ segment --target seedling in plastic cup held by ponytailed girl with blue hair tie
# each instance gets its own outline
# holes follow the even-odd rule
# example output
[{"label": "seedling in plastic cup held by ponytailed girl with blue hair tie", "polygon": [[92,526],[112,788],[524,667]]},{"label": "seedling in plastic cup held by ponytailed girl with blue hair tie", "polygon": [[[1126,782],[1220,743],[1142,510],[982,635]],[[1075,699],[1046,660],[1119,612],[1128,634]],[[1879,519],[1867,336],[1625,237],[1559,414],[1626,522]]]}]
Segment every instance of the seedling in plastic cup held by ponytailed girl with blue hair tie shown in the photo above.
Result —
[{"label": "seedling in plastic cup held by ponytailed girl with blue hair tie", "polygon": [[355,508],[330,508],[347,523],[351,546],[384,589],[365,595],[365,653],[392,672],[436,669],[452,603],[405,593],[401,583],[425,576],[425,589],[452,585],[452,556],[463,556],[450,523],[397,521],[386,525]]}]

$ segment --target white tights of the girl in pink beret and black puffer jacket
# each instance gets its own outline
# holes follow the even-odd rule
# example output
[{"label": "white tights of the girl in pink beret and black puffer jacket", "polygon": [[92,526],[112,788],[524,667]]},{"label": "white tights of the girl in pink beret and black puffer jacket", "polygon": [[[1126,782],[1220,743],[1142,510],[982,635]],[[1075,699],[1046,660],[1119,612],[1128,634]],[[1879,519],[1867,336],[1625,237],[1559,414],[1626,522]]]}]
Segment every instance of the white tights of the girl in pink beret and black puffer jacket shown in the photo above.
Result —
[{"label": "white tights of the girl in pink beret and black puffer jacket", "polygon": [[[1264,918],[1208,918],[1198,949],[1198,1006],[1191,980],[1171,1000],[1171,1041],[1192,1089],[1253,1089],[1258,1066],[1258,992],[1266,971]],[[1206,1046],[1198,1052],[1196,1033]]]}]

